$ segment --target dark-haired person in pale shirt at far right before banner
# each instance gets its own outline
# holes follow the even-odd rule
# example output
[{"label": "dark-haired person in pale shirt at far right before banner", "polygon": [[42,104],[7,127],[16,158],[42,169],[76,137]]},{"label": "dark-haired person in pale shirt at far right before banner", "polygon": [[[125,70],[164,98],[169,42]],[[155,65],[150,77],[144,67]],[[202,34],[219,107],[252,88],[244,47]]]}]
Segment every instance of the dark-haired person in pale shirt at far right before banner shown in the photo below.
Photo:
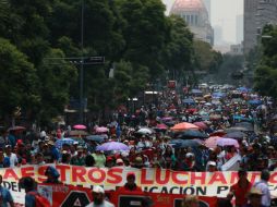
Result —
[{"label": "dark-haired person in pale shirt at far right before banner", "polygon": [[269,171],[268,170],[263,170],[261,172],[261,180],[258,182],[254,183],[254,185],[253,185],[254,187],[261,190],[261,192],[263,193],[262,204],[265,207],[269,207],[270,203],[272,203],[270,192],[269,192],[269,188],[268,188],[269,178],[270,178]]}]

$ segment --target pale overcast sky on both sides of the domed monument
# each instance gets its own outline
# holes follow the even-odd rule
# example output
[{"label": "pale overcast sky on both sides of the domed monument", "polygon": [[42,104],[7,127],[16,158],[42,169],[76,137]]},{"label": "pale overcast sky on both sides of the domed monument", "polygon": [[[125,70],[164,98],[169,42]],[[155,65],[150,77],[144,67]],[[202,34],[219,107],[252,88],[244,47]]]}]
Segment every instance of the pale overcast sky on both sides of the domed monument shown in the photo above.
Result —
[{"label": "pale overcast sky on both sides of the domed monument", "polygon": [[[162,0],[169,11],[174,0]],[[212,26],[222,27],[222,39],[236,42],[236,17],[243,14],[243,0],[210,0],[212,2]]]}]

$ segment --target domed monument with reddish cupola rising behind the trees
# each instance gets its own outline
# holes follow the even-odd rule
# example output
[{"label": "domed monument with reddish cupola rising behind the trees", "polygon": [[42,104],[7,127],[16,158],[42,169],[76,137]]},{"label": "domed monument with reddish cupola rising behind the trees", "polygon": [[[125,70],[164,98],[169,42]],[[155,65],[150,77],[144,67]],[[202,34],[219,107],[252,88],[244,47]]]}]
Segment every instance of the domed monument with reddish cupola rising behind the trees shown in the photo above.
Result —
[{"label": "domed monument with reddish cupola rising behind the trees", "polygon": [[213,46],[214,31],[209,23],[207,9],[202,0],[176,0],[170,14],[180,15],[185,20],[196,39]]}]

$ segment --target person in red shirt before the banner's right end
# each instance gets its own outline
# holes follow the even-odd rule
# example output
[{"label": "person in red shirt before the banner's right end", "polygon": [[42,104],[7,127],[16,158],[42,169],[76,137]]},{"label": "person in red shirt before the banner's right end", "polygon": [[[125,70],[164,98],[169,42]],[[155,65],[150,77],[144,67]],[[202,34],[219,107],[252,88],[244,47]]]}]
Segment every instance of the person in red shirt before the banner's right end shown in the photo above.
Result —
[{"label": "person in red shirt before the banner's right end", "polygon": [[244,169],[238,171],[239,181],[231,186],[230,193],[236,198],[236,207],[242,207],[248,204],[248,194],[252,187],[248,180],[248,172]]}]

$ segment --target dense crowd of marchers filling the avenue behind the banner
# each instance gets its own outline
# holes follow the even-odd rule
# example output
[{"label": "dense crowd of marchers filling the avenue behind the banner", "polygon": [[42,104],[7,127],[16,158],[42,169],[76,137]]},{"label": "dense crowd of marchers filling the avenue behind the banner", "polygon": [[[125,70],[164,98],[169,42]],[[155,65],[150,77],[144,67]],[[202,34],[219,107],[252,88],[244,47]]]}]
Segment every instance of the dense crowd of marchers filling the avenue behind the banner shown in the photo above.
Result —
[{"label": "dense crowd of marchers filling the avenue behind the banner", "polygon": [[[55,132],[46,130],[39,133],[1,129],[0,168],[67,163],[213,172],[222,170],[228,160],[239,155],[239,167],[244,171],[274,171],[277,168],[276,120],[270,98],[260,97],[246,88],[202,88],[182,98],[174,90],[165,90],[159,95],[157,105],[142,106],[133,113],[119,110],[110,122],[88,124],[86,130],[75,133],[73,143],[64,142],[61,146],[57,142],[72,137],[75,130],[71,126],[61,125]],[[184,138],[183,131],[172,130],[182,122],[202,123],[197,131],[205,137],[185,137],[196,141],[196,147],[178,146],[172,142]],[[100,126],[107,130],[98,132]],[[230,132],[228,130],[242,133],[241,136],[231,137],[238,142],[238,146],[210,147],[205,144],[208,137],[224,138]],[[87,133],[101,139],[89,139]],[[109,142],[123,143],[130,150],[106,151],[98,148]],[[241,174],[244,175],[243,172]],[[241,183],[250,192],[248,182],[242,179]],[[237,195],[238,188],[240,185],[233,186],[230,196],[240,196]]]}]

